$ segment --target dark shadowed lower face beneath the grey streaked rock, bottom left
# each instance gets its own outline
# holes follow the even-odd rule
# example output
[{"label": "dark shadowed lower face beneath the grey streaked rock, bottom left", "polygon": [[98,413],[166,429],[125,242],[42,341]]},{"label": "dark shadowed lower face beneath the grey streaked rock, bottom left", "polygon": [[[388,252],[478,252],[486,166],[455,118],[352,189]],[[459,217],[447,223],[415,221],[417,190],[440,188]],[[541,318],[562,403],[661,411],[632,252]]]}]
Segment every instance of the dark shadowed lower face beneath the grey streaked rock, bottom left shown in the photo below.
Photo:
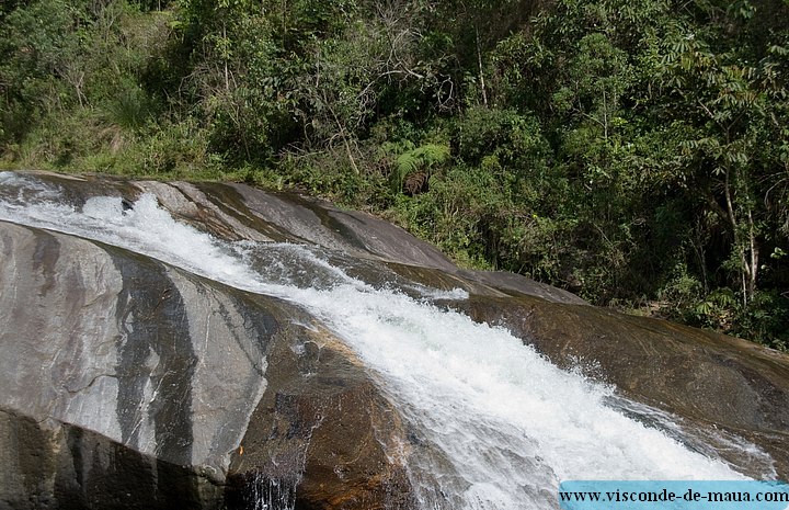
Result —
[{"label": "dark shadowed lower face beneath the grey streaked rock, bottom left", "polygon": [[0,410],[0,508],[219,508],[222,487],[70,423]]}]

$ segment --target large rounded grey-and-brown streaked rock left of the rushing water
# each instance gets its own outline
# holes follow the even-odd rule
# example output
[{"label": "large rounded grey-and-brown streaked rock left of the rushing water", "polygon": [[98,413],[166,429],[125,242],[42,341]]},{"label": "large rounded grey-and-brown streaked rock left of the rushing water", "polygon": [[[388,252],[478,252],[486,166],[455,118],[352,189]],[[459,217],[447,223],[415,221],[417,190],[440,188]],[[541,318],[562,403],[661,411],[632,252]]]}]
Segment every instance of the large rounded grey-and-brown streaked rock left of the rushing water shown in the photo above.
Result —
[{"label": "large rounded grey-and-brown streaked rock left of the rushing water", "polygon": [[397,410],[298,307],[3,222],[0,253],[0,508],[409,508]]}]

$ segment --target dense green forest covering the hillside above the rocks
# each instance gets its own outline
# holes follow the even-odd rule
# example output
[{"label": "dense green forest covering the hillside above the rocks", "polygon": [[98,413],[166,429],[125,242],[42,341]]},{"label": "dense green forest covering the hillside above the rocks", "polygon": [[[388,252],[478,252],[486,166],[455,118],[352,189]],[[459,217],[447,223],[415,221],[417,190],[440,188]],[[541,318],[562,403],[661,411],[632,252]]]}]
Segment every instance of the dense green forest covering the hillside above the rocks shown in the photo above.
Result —
[{"label": "dense green forest covering the hillside above the rocks", "polygon": [[10,168],[241,179],[789,347],[787,0],[5,0]]}]

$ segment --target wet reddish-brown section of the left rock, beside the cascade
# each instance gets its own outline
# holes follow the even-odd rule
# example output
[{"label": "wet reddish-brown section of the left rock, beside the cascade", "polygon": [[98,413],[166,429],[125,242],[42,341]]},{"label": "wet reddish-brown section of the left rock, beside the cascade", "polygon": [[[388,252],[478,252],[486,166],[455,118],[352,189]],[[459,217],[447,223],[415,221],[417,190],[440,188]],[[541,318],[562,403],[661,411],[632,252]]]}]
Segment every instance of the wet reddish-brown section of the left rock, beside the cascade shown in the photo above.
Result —
[{"label": "wet reddish-brown section of the left rock, beside the cascade", "polygon": [[304,345],[318,344],[306,381],[291,349],[271,352],[277,363],[267,372],[271,385],[242,440],[243,454],[233,456],[228,501],[263,494],[272,508],[412,508],[405,460],[387,457],[403,435],[397,411],[346,348],[330,337]]}]

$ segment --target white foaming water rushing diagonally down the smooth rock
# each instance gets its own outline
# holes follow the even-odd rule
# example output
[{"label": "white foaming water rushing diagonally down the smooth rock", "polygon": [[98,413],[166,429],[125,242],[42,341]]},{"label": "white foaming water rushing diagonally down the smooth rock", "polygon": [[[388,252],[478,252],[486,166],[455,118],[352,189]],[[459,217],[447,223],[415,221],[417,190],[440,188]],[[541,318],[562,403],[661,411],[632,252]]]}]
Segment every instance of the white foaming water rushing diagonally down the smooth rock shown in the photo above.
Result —
[{"label": "white foaming water rushing diagonally down the smooth rock", "polygon": [[504,329],[430,304],[462,291],[407,294],[350,276],[317,248],[221,241],[173,219],[151,194],[130,208],[119,197],[73,207],[32,177],[0,172],[0,219],[151,256],[320,318],[409,421],[408,467],[424,509],[556,508],[567,479],[743,478],[645,427],[632,408],[611,407],[611,388],[557,369]]}]

